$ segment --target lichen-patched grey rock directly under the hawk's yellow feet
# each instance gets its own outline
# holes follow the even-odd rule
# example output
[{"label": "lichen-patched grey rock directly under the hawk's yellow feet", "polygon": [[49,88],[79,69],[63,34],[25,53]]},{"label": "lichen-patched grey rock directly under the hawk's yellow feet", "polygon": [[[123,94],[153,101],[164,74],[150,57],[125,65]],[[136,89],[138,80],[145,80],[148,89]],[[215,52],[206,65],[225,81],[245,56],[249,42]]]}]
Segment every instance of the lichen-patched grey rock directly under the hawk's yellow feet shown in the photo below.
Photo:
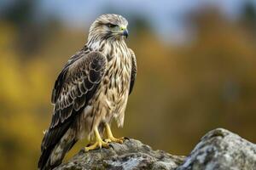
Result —
[{"label": "lichen-patched grey rock directly under the hawk's yellow feet", "polygon": [[172,156],[162,150],[152,150],[148,145],[136,139],[125,140],[124,144],[112,144],[113,148],[80,150],[67,163],[61,164],[55,170],[85,170],[85,169],[175,169],[181,165],[184,156]]}]

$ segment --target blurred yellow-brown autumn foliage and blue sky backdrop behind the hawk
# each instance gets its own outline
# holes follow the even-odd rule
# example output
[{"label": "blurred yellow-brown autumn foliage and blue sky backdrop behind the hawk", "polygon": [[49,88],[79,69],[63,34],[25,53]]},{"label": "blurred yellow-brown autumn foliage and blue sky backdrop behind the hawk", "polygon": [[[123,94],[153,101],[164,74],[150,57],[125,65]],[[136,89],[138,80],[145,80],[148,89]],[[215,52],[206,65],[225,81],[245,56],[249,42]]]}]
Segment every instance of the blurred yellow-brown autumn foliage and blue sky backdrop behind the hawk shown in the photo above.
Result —
[{"label": "blurred yellow-brown autumn foliage and blue sky backdrop behind the hawk", "polygon": [[0,169],[36,169],[55,78],[105,13],[129,20],[138,65],[116,136],[175,155],[216,127],[256,143],[256,1],[2,0]]}]

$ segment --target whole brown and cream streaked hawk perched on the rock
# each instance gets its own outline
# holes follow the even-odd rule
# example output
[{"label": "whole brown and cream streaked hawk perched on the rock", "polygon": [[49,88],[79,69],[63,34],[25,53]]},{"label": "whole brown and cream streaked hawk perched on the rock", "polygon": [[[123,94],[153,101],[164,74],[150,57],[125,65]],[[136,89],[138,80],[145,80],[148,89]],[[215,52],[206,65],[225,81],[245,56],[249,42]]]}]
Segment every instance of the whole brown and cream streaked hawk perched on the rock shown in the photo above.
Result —
[{"label": "whole brown and cream streaked hawk perched on the rock", "polygon": [[[118,14],[102,14],[90,26],[88,41],[64,66],[55,81],[54,113],[41,144],[39,169],[61,164],[79,139],[88,137],[85,150],[108,148],[114,138],[110,124],[122,127],[125,107],[136,76],[137,62],[125,43],[128,21]],[[107,139],[102,139],[103,132]]]}]

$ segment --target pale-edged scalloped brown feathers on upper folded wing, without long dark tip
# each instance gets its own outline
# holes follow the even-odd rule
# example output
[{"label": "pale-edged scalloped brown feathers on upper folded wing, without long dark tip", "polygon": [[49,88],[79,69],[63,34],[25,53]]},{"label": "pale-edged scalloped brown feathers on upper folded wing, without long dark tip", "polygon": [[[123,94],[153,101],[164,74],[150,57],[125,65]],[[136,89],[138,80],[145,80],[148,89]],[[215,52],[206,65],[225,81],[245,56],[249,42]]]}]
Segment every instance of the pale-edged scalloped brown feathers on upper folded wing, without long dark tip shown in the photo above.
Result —
[{"label": "pale-edged scalloped brown feathers on upper folded wing, without long dark tip", "polygon": [[[55,111],[50,128],[65,122],[74,111],[86,105],[105,74],[107,59],[99,52],[84,54],[67,65],[55,82],[52,101]],[[61,89],[59,89],[61,88]]]}]

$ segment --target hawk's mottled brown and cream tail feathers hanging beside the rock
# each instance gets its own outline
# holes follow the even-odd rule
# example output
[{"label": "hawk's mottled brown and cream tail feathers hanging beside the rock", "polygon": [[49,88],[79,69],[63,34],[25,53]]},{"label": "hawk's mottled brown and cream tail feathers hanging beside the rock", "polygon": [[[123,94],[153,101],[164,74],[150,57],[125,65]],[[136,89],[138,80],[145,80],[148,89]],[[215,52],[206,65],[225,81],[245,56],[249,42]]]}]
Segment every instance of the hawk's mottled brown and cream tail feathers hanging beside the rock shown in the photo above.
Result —
[{"label": "hawk's mottled brown and cream tail feathers hanging beside the rock", "polygon": [[42,155],[38,161],[38,169],[50,170],[60,165],[67,151],[70,150],[76,142],[77,139],[75,139],[73,129],[69,128],[57,144],[45,148],[42,145]]}]

